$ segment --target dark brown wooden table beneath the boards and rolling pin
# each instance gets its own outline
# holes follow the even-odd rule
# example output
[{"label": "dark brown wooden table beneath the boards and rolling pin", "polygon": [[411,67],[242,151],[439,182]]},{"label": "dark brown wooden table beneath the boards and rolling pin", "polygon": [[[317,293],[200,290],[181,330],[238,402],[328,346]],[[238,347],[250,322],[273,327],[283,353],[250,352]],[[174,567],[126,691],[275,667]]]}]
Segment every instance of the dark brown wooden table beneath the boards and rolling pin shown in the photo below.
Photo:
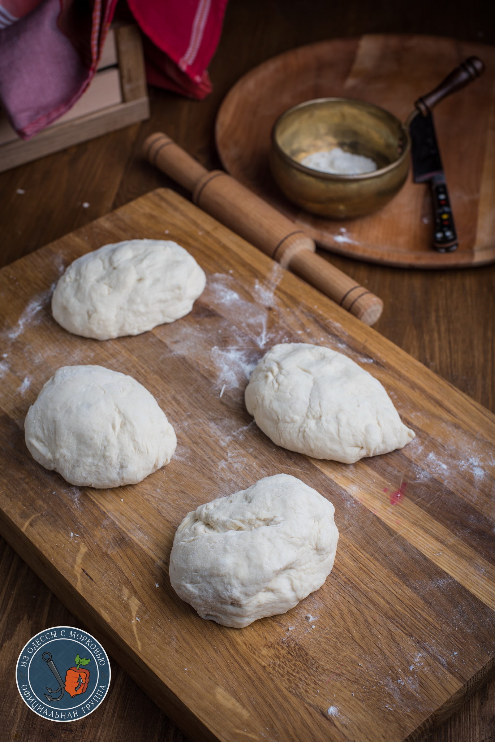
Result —
[{"label": "dark brown wooden table beneath the boards and rolling pin", "polygon": [[[151,89],[151,118],[142,125],[0,175],[0,266],[160,185],[182,192],[142,160],[142,142],[153,131],[166,131],[208,168],[219,167],[213,124],[220,102],[242,74],[268,57],[308,42],[362,33],[433,33],[494,45],[490,12],[493,16],[487,0],[475,0],[468,9],[455,0],[230,0],[210,65],[215,89],[204,102]],[[325,257],[385,301],[379,332],[495,411],[495,266],[427,272]],[[119,657],[113,658],[107,700],[89,718],[57,724],[30,712],[14,678],[19,651],[43,628],[81,624],[70,605],[59,603],[1,539],[0,595],[0,741],[185,742],[119,668]],[[494,740],[495,680],[429,738]]]}]

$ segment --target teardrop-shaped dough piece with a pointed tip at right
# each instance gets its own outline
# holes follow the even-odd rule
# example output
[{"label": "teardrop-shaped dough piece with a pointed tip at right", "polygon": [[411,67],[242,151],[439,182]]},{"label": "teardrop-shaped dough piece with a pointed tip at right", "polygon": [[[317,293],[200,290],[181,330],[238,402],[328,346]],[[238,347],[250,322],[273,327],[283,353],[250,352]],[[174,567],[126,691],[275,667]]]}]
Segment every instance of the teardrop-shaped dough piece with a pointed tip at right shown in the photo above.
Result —
[{"label": "teardrop-shaped dough piece with a pointed tip at right", "polygon": [[273,443],[315,459],[353,464],[415,435],[376,378],[319,345],[273,346],[253,370],[245,402]]}]

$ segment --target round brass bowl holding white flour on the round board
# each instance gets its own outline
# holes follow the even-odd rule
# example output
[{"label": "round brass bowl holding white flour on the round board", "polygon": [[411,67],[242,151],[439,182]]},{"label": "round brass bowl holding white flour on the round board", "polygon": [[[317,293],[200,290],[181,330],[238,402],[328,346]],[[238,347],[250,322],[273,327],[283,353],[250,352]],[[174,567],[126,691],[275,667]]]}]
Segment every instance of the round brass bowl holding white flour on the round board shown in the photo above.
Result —
[{"label": "round brass bowl holding white flour on the round board", "polygon": [[[301,164],[339,146],[371,157],[378,169],[358,175],[323,173]],[[352,219],[382,209],[408,177],[407,127],[383,108],[351,98],[319,98],[289,108],[272,129],[270,167],[290,201],[312,214]]]}]

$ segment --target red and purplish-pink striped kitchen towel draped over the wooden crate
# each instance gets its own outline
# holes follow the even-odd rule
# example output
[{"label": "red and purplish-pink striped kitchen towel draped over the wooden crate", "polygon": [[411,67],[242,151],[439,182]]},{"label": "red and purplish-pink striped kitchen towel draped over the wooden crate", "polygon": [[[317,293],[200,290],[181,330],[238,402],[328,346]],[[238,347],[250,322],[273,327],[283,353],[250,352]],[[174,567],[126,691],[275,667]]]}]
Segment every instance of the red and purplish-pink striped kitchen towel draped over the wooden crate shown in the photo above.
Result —
[{"label": "red and purplish-pink striped kitchen towel draped over the wooden crate", "polygon": [[[29,139],[90,84],[117,0],[0,0],[0,102]],[[130,0],[151,85],[203,99],[227,0]]]}]

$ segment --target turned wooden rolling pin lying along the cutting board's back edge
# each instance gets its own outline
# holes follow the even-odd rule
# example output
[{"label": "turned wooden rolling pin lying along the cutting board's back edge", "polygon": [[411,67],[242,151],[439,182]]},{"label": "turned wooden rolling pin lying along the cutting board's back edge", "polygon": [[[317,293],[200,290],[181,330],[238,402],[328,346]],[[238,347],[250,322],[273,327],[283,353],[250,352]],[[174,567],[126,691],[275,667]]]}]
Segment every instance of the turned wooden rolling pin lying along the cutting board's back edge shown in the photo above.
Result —
[{"label": "turned wooden rolling pin lying along the cutting board's back edge", "polygon": [[193,203],[200,209],[365,324],[375,324],[382,314],[382,300],[316,255],[313,240],[273,206],[224,171],[204,168],[166,134],[147,137],[143,152],[153,165],[192,191]]}]

